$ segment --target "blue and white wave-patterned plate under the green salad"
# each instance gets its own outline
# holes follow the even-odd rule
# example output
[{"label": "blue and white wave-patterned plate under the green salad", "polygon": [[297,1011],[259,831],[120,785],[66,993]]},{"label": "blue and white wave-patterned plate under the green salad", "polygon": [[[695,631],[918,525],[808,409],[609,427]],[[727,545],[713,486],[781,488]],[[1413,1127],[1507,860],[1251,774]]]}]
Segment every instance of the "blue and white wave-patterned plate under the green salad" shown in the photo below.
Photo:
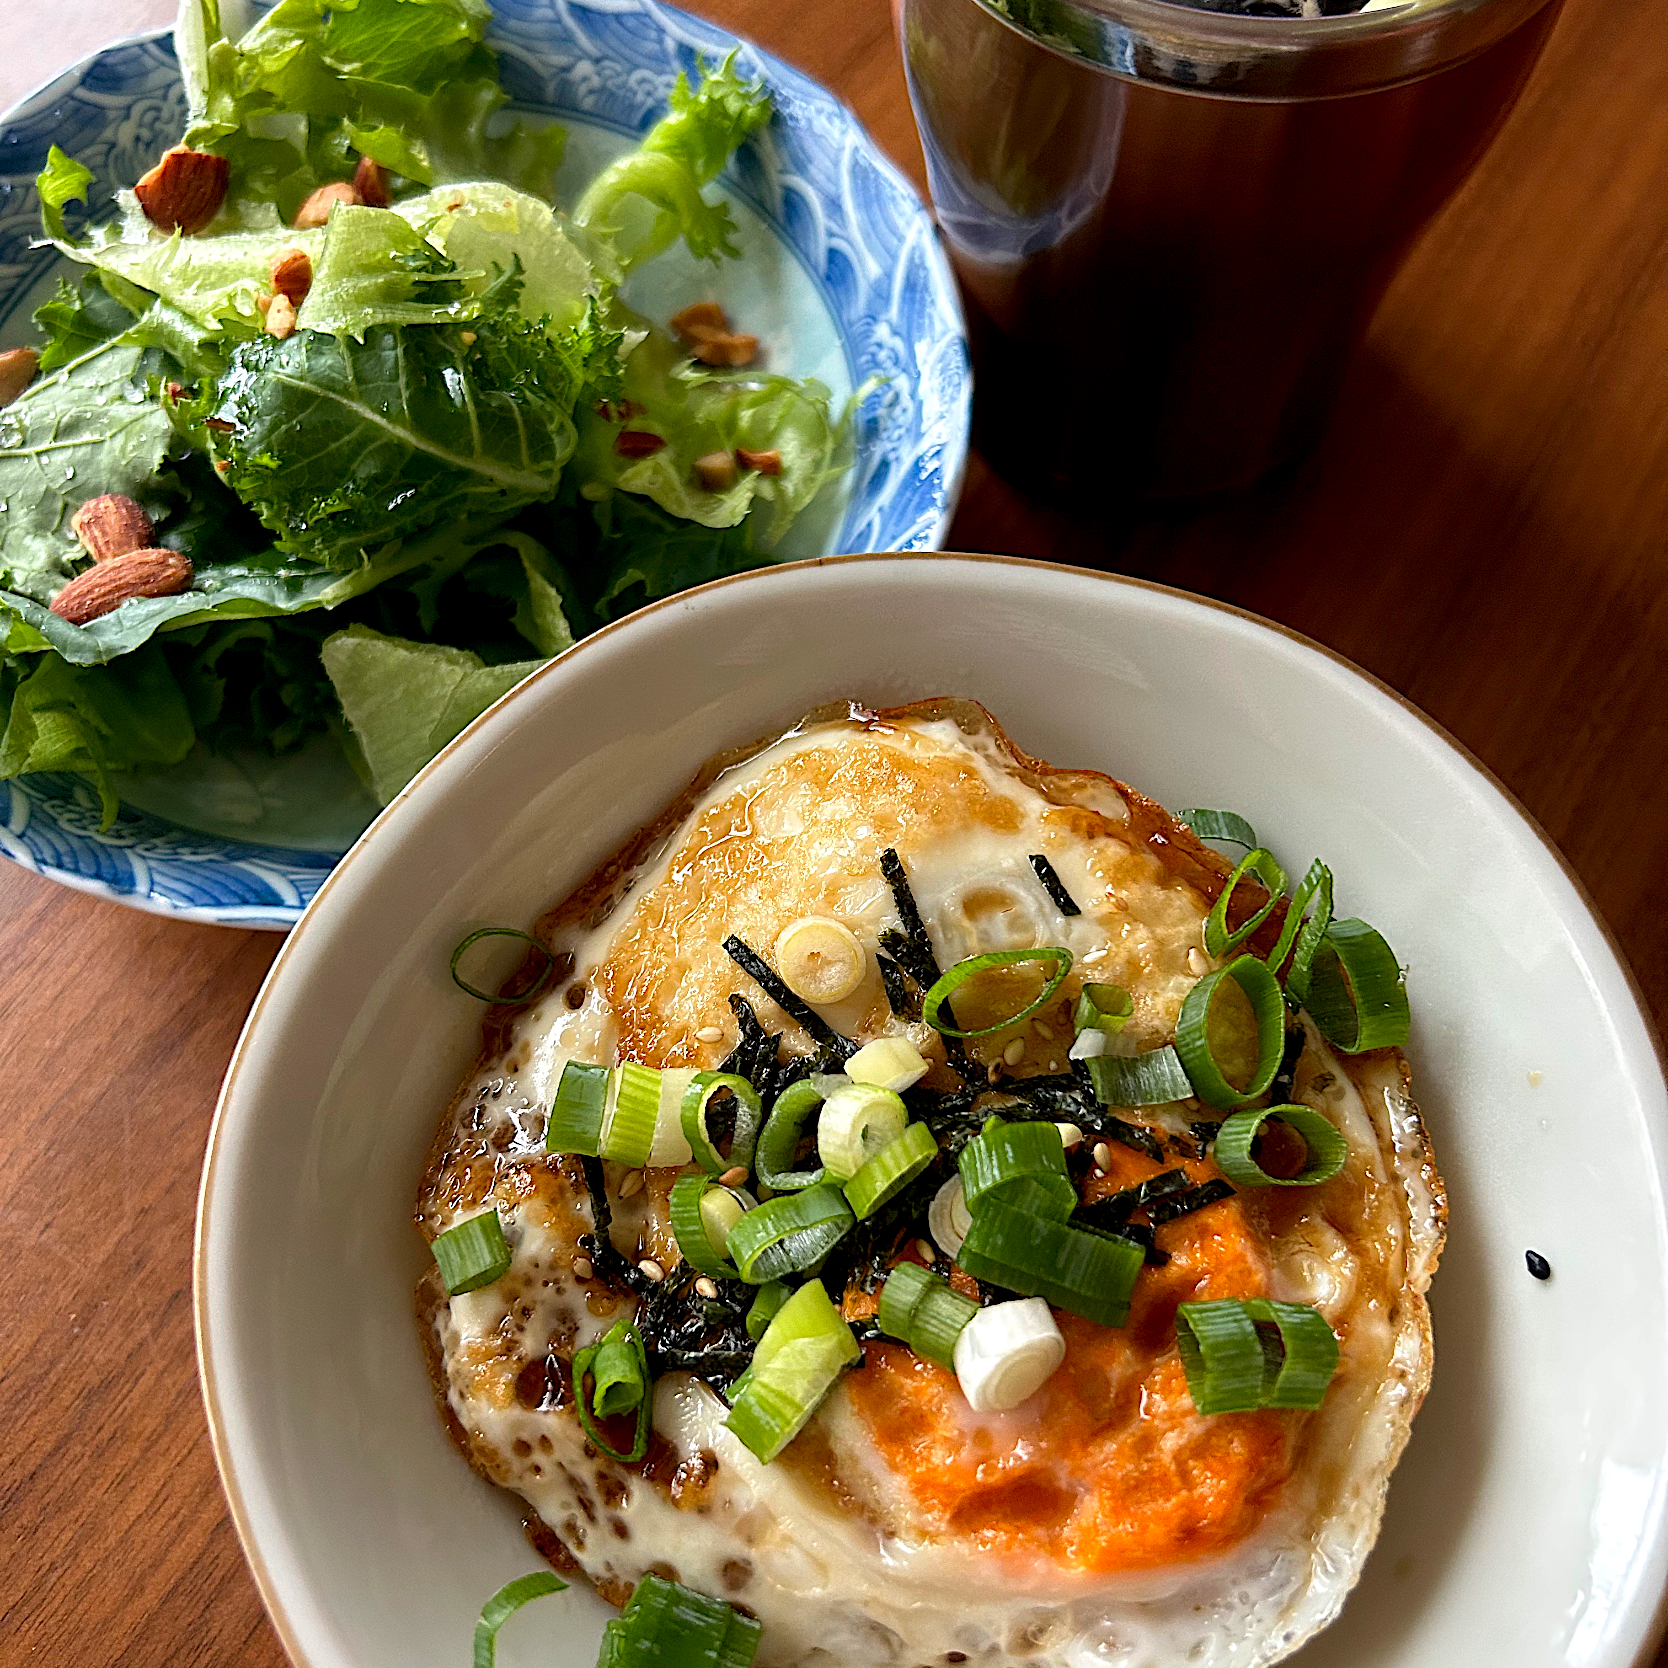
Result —
[{"label": "blue and white wave-patterned plate under the green salad", "polygon": [[[721,287],[776,369],[817,375],[836,397],[886,379],[859,419],[851,482],[794,529],[784,555],[939,549],[967,450],[961,305],[926,208],[851,110],[779,58],[654,0],[495,0],[495,12],[492,40],[517,108],[569,130],[562,202],[659,117],[679,70],[741,48],[742,70],[764,78],[777,112],[721,180],[744,259],[716,284],[711,267],[669,255],[629,297],[664,317]],[[93,170],[97,214],[183,123],[167,32],[95,53],[0,117],[0,344],[33,339],[30,314],[67,265],[30,247],[47,147]],[[317,752],[294,766],[188,762],[133,782],[103,831],[78,776],[0,782],[0,852],[137,909],[290,927],[375,807]]]}]

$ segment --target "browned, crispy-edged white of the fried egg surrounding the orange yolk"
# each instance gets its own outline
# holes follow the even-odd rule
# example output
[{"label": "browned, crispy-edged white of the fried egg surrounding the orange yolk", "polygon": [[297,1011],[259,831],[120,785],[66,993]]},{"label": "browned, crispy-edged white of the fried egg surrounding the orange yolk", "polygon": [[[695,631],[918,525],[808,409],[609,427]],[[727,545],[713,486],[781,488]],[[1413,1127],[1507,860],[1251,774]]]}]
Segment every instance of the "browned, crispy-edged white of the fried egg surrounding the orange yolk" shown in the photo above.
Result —
[{"label": "browned, crispy-edged white of the fried egg surrounding the orange yolk", "polygon": [[[822,756],[859,747],[897,749],[911,769],[924,764],[951,784],[942,796],[934,789],[921,814],[931,839],[911,839],[921,827],[907,817],[902,836],[877,826],[896,809],[884,794],[864,804],[841,791],[837,772],[817,774]],[[1009,826],[957,816],[957,794],[986,796],[981,802]],[[806,899],[814,897],[872,951],[881,929],[896,926],[877,854],[899,844],[944,966],[984,949],[1066,944],[1083,976],[1131,991],[1129,1031],[1153,1046],[1173,1032],[1183,999],[1214,962],[1199,936],[1209,897],[1154,872],[1134,797],[1104,777],[1049,772],[962,712],[831,719],[722,772],[637,854],[629,886],[614,877],[580,889],[582,907],[557,914],[572,976],[515,1024],[454,1101],[419,1223],[432,1236],[485,1198],[497,1203],[510,1273],[450,1301],[432,1281],[427,1288],[437,1384],[470,1461],[517,1491],[604,1593],[622,1598],[652,1568],[746,1605],[764,1623],[767,1668],[961,1658],[1263,1668],[1338,1613],[1376,1538],[1389,1473],[1429,1379],[1424,1289],[1444,1206],[1399,1056],[1343,1059],[1313,1029],[1298,1098],[1346,1136],[1376,1201],[1374,1231],[1363,1239],[1314,1209],[1269,1248],[1274,1294],[1313,1303],[1339,1326],[1344,1364],[1311,1416],[1303,1461],[1278,1505],[1228,1553],[1113,1576],[1041,1553],[977,1555],[921,1520],[907,1483],[881,1461],[841,1389],[784,1460],[761,1465],[724,1429],[719,1396],[671,1374],[656,1386],[654,1429],[669,1446],[652,1475],[589,1451],[570,1408],[527,1406],[529,1363],[547,1348],[570,1354],[627,1313],[575,1278],[574,1239],[589,1228],[589,1206],[542,1154],[544,1109],[562,1066],[612,1063],[622,1037],[647,1064],[716,1064],[734,1041],[734,1022],[714,999],[721,989],[746,991],[771,1029],[786,1022],[737,974],[701,911],[711,906],[711,922],[726,929],[746,917],[749,941],[767,946],[774,934],[761,924],[811,912]],[[726,861],[756,857],[756,872],[777,884],[691,901],[689,876],[712,851]],[[1061,914],[1037,886],[1029,866],[1037,851],[1083,914]],[[657,964],[667,954],[672,962]],[[851,1036],[912,1031],[929,1041],[891,1017],[872,969],[822,1012]],[[702,1039],[712,1026],[722,1036]],[[787,1024],[784,1046],[796,1042],[809,1049]],[[1068,1044],[1069,1036],[1032,1034],[1029,1069],[1063,1069]],[[622,1173],[609,1169],[617,1191]],[[669,1179],[651,1173],[651,1186],[617,1206],[612,1238],[634,1259],[677,1261],[664,1216]],[[1012,1419],[971,1409],[964,1418],[969,1434],[982,1426],[997,1441]]]}]

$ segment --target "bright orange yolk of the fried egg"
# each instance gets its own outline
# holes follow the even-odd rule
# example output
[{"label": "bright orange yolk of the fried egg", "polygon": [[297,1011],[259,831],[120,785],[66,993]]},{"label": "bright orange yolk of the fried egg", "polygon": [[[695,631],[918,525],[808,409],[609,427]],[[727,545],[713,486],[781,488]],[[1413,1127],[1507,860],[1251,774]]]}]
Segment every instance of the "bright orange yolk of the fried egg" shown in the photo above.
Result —
[{"label": "bright orange yolk of the fried egg", "polygon": [[[1091,1198],[1173,1168],[1113,1151]],[[867,1346],[847,1378],[852,1404],[937,1533],[1114,1573],[1221,1551],[1256,1528],[1291,1473],[1293,1416],[1201,1416],[1176,1353],[1176,1306],[1266,1296],[1268,1258],[1236,1199],[1159,1228],[1158,1244],[1169,1263],[1143,1271],[1126,1326],[1054,1311],[1066,1359],[1011,1413],[971,1413],[952,1373],[902,1344]]]}]

